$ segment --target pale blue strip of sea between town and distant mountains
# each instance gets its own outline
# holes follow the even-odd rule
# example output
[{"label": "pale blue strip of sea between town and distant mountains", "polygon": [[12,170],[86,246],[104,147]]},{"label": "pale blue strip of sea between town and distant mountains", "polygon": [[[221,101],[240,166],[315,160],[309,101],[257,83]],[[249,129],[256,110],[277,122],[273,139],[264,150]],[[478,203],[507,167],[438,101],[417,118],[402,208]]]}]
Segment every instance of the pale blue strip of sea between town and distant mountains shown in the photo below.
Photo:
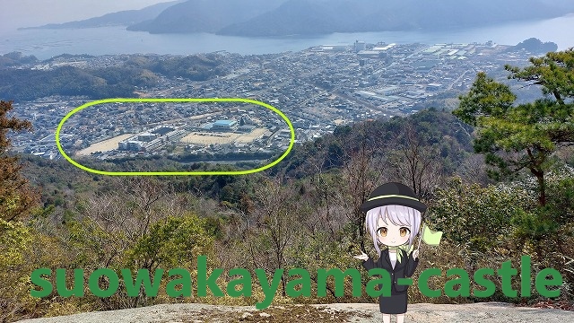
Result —
[{"label": "pale blue strip of sea between town and distant mountains", "polygon": [[61,54],[117,55],[135,53],[188,55],[227,51],[241,55],[274,54],[300,51],[319,45],[351,45],[355,40],[367,43],[485,43],[516,45],[535,37],[552,41],[563,50],[574,47],[574,13],[539,20],[509,22],[480,28],[448,31],[381,31],[332,33],[313,37],[248,38],[192,34],[150,34],[126,31],[125,27],[0,31],[0,55],[13,51],[39,59]]}]

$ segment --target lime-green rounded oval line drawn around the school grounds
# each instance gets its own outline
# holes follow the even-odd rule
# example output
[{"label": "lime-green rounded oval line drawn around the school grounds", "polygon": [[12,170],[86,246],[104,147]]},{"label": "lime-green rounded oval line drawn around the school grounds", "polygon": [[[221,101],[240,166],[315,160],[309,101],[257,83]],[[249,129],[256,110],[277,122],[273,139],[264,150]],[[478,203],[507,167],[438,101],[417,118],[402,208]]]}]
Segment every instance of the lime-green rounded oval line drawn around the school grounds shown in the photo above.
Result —
[{"label": "lime-green rounded oval line drawn around the school grounds", "polygon": [[[257,169],[254,170],[230,170],[230,171],[223,171],[223,170],[212,170],[212,171],[106,171],[106,170],[93,170],[89,167],[83,166],[82,164],[75,162],[72,158],[70,158],[70,156],[68,156],[65,152],[64,149],[62,148],[62,145],[60,144],[60,131],[62,130],[62,127],[64,126],[65,120],[67,120],[68,118],[72,117],[76,112],[79,112],[83,109],[86,109],[88,107],[91,107],[93,105],[97,105],[97,104],[101,104],[101,103],[118,103],[118,102],[244,102],[244,103],[252,103],[252,104],[257,104],[260,105],[262,107],[265,107],[267,109],[270,109],[272,111],[274,111],[276,114],[278,114],[279,116],[281,116],[281,118],[283,118],[283,120],[285,120],[285,122],[287,123],[287,126],[289,126],[289,130],[291,131],[291,140],[289,142],[289,147],[287,148],[287,150],[285,151],[285,153],[283,153],[283,155],[281,155],[276,161],[271,162],[265,166],[259,167]],[[287,157],[287,155],[289,153],[291,153],[291,149],[293,148],[293,144],[295,144],[295,129],[293,128],[293,126],[291,125],[291,120],[289,118],[287,118],[287,116],[285,116],[283,114],[283,112],[281,112],[281,110],[276,109],[274,106],[267,104],[265,102],[261,102],[258,100],[251,100],[251,99],[241,99],[241,98],[213,98],[213,99],[200,99],[200,98],[188,98],[188,99],[178,99],[178,98],[173,98],[173,99],[157,99],[157,98],[151,98],[151,99],[124,99],[124,98],[118,98],[118,99],[104,99],[104,100],[94,100],[88,103],[85,103],[83,105],[81,105],[80,107],[73,109],[72,111],[70,111],[67,115],[65,115],[64,118],[62,118],[62,120],[60,121],[60,123],[57,125],[57,129],[56,129],[56,144],[57,144],[57,149],[60,153],[62,153],[62,156],[64,156],[64,158],[72,163],[75,167],[81,169],[81,170],[86,170],[89,171],[91,173],[94,174],[100,174],[100,175],[110,175],[110,176],[167,176],[167,175],[246,175],[246,174],[251,174],[251,173],[255,173],[257,171],[261,171],[261,170],[266,170],[268,168],[273,167],[274,165],[276,165],[278,162],[283,161],[283,159],[285,157]]]}]

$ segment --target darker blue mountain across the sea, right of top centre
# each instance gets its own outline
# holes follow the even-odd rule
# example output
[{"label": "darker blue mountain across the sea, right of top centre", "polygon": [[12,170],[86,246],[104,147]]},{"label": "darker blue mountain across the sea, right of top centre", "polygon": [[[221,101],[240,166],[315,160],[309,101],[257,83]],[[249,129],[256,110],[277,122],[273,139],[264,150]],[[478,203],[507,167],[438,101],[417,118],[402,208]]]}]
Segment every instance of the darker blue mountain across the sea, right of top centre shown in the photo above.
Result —
[{"label": "darker blue mountain across the sea, right of top centre", "polygon": [[220,31],[279,36],[331,32],[443,30],[489,26],[565,14],[539,0],[290,0],[280,8]]}]

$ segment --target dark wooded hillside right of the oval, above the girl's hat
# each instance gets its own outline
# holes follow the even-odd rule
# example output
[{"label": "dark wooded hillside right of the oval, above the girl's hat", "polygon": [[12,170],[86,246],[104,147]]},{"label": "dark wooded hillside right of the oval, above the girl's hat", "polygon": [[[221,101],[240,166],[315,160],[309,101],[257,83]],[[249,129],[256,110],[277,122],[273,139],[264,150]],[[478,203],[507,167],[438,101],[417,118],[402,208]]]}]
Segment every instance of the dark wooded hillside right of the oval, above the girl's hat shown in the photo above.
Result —
[{"label": "dark wooded hillside right of the oval, above the girl's hat", "polygon": [[454,174],[472,152],[471,133],[470,127],[438,109],[425,109],[405,118],[364,121],[336,127],[334,134],[303,144],[274,172],[301,178],[317,170],[341,169],[361,150],[381,162],[380,168],[392,169],[406,162],[406,147],[411,146],[429,162],[436,160],[433,163],[442,173]]}]

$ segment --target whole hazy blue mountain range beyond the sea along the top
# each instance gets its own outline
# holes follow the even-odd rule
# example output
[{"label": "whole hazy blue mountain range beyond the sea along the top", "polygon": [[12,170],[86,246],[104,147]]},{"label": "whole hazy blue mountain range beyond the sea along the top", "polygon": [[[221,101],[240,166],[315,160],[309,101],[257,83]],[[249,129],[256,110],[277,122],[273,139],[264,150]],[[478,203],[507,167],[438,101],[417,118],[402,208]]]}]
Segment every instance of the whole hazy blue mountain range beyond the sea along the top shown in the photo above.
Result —
[{"label": "whole hazy blue mountain range beyond the sea along the top", "polygon": [[307,36],[469,28],[573,12],[574,2],[567,0],[187,0],[42,28],[117,24],[151,33]]}]

